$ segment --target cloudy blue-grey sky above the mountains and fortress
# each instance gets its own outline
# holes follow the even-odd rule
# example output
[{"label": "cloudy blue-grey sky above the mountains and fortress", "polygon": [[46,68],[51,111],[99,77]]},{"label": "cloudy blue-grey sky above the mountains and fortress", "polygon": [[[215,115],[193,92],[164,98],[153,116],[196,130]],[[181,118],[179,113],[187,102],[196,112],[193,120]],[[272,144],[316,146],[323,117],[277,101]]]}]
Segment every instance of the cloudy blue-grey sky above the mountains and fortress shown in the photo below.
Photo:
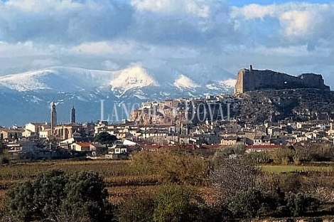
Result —
[{"label": "cloudy blue-grey sky above the mountains and fortress", "polygon": [[327,0],[0,0],[0,75],[140,64],[227,78],[252,64],[334,87],[333,47]]}]

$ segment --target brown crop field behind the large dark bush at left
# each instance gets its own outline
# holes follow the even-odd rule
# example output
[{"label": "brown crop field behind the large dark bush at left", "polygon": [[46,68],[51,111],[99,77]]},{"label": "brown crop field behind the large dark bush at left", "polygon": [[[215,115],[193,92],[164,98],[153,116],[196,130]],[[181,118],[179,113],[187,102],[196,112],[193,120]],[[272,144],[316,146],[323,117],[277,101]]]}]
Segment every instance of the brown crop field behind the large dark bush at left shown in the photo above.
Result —
[{"label": "brown crop field behind the large dark bush at left", "polygon": [[119,202],[129,194],[151,192],[158,184],[158,176],[144,175],[136,171],[129,161],[87,160],[50,161],[0,166],[0,201],[12,184],[26,179],[34,179],[38,174],[50,169],[64,171],[97,171],[107,183],[109,199]]}]

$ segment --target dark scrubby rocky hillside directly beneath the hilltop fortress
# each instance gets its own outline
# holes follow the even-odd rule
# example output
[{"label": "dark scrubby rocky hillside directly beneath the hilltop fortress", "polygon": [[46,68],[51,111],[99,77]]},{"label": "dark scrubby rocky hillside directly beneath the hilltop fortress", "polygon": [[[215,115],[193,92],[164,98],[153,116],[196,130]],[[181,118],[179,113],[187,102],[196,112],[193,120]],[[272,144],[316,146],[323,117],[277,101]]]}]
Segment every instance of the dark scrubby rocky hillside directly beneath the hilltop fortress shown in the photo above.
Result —
[{"label": "dark scrubby rocky hillside directly beneath the hilltop fortress", "polygon": [[235,118],[246,122],[266,120],[317,120],[334,117],[334,92],[318,89],[257,90],[235,95]]}]

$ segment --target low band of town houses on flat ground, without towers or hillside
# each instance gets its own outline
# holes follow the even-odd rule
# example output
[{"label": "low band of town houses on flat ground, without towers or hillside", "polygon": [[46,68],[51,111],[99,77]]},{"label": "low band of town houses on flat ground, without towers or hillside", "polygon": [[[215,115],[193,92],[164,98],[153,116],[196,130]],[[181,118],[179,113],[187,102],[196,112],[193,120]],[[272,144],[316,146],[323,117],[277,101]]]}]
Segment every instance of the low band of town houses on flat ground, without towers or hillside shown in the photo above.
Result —
[{"label": "low band of town houses on flat ground, without towers or hillside", "polygon": [[[246,152],[280,149],[297,142],[331,142],[334,139],[333,122],[266,122],[249,125],[236,121],[185,122],[161,125],[139,125],[124,121],[119,124],[97,123],[57,125],[49,133],[50,125],[28,123],[25,127],[1,127],[1,142],[6,152],[24,159],[70,158],[83,155],[90,158],[124,159],[137,150],[220,149],[244,144]],[[47,132],[47,133],[46,133]],[[117,137],[113,144],[99,144],[94,137],[102,132]]]}]

